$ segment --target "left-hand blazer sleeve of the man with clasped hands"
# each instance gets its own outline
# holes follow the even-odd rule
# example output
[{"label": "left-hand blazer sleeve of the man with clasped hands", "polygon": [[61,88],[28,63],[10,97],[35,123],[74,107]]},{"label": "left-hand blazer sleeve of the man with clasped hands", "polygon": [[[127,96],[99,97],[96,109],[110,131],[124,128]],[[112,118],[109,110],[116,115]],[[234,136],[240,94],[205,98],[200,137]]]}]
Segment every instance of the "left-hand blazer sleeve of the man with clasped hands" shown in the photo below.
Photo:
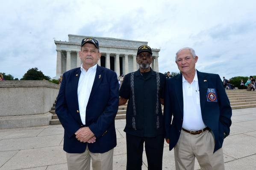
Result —
[{"label": "left-hand blazer sleeve of the man with clasped hands", "polygon": [[62,75],[62,84],[59,89],[55,112],[58,115],[59,121],[67,132],[68,137],[71,138],[71,136],[74,135],[80,127],[79,124],[77,124],[77,122],[74,120],[74,118],[68,113],[68,105],[65,95],[66,82],[67,75],[65,75],[64,73]]}]

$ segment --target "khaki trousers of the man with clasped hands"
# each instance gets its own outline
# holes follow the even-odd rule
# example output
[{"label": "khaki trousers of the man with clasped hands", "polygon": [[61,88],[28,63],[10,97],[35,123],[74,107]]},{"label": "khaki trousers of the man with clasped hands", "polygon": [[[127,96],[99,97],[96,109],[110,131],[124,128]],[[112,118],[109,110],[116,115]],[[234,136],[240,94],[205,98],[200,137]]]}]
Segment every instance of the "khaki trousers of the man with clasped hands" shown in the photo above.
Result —
[{"label": "khaki trousers of the man with clasped hands", "polygon": [[68,170],[90,170],[91,161],[93,170],[112,170],[113,151],[91,153],[86,147],[84,153],[67,153]]}]

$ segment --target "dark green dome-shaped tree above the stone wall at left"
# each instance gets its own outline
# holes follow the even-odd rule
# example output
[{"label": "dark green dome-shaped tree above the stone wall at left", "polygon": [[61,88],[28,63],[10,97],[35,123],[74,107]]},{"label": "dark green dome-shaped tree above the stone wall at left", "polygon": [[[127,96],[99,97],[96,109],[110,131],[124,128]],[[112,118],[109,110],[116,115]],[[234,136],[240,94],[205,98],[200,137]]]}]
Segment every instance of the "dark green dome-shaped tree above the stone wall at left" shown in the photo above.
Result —
[{"label": "dark green dome-shaped tree above the stone wall at left", "polygon": [[38,68],[29,69],[21,78],[21,80],[50,80],[49,76],[44,75]]}]

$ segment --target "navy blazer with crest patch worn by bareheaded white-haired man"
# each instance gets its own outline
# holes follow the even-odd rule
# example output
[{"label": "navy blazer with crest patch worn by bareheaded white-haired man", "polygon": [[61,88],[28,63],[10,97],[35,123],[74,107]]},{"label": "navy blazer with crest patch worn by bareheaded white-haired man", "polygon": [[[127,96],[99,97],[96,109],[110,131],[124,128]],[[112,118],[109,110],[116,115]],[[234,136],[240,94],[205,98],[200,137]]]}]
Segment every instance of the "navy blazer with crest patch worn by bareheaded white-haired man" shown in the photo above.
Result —
[{"label": "navy blazer with crest patch worn by bareheaded white-haired man", "polygon": [[[215,152],[222,147],[224,133],[230,133],[232,109],[219,75],[197,71],[197,77],[202,118],[214,135]],[[216,90],[217,102],[207,101],[208,88]],[[182,74],[166,80],[164,119],[165,138],[170,139],[169,149],[172,150],[179,140],[183,123]]]}]

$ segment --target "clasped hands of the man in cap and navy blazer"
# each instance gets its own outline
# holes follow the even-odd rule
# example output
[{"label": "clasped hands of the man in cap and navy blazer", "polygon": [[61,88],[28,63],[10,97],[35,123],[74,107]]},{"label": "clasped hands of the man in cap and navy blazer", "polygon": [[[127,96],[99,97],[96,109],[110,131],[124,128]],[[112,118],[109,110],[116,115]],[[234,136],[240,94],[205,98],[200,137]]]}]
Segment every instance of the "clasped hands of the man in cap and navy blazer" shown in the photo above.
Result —
[{"label": "clasped hands of the man in cap and navy blazer", "polygon": [[83,143],[94,143],[96,141],[96,137],[89,127],[81,127],[75,135],[77,140]]}]

